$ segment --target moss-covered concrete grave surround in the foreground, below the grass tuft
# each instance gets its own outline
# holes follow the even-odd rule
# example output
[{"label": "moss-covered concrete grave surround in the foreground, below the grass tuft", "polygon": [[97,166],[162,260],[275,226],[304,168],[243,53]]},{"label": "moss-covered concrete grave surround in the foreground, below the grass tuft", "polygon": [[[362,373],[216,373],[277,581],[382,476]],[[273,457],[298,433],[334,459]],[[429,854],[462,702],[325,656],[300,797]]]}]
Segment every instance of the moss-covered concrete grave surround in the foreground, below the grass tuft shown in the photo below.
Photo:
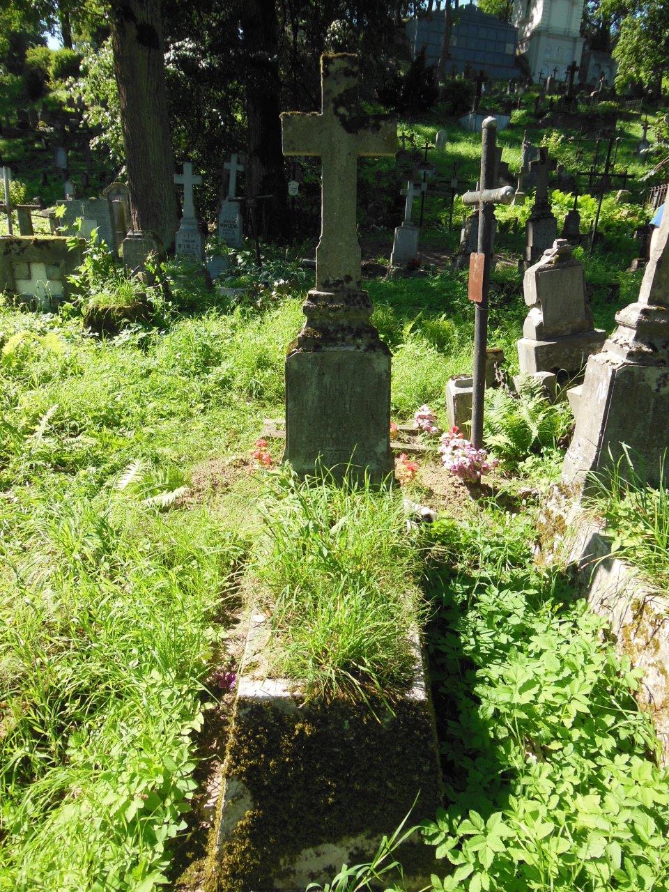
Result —
[{"label": "moss-covered concrete grave surround in the foreground, below the grass tuft", "polygon": [[[392,705],[305,702],[268,675],[269,622],[249,619],[233,730],[222,768],[206,892],[302,890],[370,860],[384,835],[434,816],[442,779],[434,713],[416,641],[415,679]],[[408,888],[429,885],[434,849],[401,847]]]}]

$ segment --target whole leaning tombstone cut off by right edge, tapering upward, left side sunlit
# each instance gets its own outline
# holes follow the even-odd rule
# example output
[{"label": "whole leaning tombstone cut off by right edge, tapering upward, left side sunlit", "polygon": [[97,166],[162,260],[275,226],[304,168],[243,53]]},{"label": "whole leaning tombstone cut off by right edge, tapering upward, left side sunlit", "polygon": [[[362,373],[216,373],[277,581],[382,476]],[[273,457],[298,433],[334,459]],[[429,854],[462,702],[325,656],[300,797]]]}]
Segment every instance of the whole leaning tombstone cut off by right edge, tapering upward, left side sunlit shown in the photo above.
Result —
[{"label": "whole leaning tombstone cut off by right edge, tapering upward, left side sunlit", "polygon": [[600,353],[591,356],[576,413],[574,439],[562,469],[567,483],[624,455],[641,461],[659,485],[669,448],[669,214],[641,282],[639,298],[620,310]]}]

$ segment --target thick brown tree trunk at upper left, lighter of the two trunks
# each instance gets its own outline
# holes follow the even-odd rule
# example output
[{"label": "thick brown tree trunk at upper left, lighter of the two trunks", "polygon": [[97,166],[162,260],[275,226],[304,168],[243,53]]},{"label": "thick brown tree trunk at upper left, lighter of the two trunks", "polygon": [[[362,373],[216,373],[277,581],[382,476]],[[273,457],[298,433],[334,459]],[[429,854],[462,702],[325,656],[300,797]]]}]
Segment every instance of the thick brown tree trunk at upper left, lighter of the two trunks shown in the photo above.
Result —
[{"label": "thick brown tree trunk at upper left, lighter of the two trunks", "polygon": [[111,46],[119,86],[135,229],[151,229],[164,248],[174,242],[178,208],[169,136],[161,0],[110,0]]}]

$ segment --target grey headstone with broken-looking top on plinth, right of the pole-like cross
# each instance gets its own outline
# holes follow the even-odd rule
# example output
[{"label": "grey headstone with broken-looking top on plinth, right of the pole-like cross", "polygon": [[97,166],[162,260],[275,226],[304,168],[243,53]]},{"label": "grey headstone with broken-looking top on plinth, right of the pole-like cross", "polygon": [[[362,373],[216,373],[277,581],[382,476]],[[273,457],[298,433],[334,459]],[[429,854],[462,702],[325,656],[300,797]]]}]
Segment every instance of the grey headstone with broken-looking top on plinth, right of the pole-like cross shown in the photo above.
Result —
[{"label": "grey headstone with broken-looking top on plinth, right of the pole-like cross", "polygon": [[606,333],[593,326],[582,263],[564,239],[525,271],[523,291],[530,311],[517,343],[520,371],[578,375]]}]

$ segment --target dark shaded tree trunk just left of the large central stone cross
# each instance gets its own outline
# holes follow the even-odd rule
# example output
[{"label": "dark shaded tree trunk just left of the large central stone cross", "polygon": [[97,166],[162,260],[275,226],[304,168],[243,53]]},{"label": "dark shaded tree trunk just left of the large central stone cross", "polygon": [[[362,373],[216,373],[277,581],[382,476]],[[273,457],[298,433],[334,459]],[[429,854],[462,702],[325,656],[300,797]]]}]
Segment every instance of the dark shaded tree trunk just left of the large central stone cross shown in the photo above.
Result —
[{"label": "dark shaded tree trunk just left of the large central stone cross", "polygon": [[[284,153],[281,148],[281,80],[278,69],[276,0],[245,0],[241,15],[246,71],[249,153],[246,186],[251,195],[272,197],[256,211],[264,238],[288,235]],[[262,221],[262,223],[260,223]]]}]

